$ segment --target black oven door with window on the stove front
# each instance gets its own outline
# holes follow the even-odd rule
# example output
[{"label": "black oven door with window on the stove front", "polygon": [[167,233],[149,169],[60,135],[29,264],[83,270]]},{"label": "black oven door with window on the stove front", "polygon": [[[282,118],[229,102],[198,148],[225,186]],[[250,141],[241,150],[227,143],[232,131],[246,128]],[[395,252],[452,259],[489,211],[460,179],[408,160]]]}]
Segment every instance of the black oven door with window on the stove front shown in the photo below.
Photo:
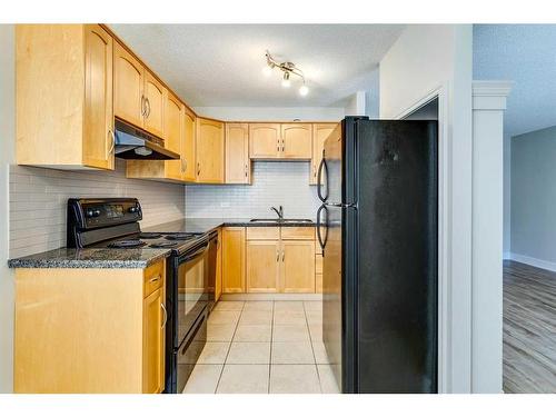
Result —
[{"label": "black oven door with window on the stove front", "polygon": [[209,302],[209,241],[192,247],[177,260],[177,317],[175,320],[177,338],[180,346],[192,329],[197,318]]}]

